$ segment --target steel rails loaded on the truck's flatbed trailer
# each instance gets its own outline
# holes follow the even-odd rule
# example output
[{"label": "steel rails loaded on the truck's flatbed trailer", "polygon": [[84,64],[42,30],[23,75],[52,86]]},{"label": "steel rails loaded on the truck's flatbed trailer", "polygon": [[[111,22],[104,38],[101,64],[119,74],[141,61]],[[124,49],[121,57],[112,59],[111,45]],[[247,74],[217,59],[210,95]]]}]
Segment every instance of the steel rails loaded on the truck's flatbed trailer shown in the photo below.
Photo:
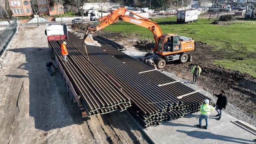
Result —
[{"label": "steel rails loaded on the truck's flatbed trailer", "polygon": [[68,62],[61,55],[60,41],[48,41],[54,49],[55,56],[82,98],[82,104],[88,116],[104,114],[131,106],[129,97],[122,92],[115,82],[111,81],[104,71],[98,70],[86,57],[76,49],[76,44],[68,43]]}]

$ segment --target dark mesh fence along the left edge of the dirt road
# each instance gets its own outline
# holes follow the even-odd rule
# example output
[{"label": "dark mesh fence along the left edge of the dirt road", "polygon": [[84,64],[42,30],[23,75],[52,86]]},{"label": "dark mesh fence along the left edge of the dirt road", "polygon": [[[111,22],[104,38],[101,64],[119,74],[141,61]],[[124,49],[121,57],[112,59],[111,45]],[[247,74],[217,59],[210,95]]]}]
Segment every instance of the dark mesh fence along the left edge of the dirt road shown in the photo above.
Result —
[{"label": "dark mesh fence along the left edge of the dirt road", "polygon": [[16,33],[17,27],[17,21],[14,20],[11,25],[6,26],[4,30],[0,31],[0,57]]}]

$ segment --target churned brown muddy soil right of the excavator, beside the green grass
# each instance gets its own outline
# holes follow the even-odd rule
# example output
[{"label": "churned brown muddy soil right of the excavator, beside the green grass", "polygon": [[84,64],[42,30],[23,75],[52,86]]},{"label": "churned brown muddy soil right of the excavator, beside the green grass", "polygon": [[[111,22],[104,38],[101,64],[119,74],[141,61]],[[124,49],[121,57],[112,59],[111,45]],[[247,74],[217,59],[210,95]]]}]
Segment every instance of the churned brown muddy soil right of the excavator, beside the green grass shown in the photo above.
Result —
[{"label": "churned brown muddy soil right of the excavator, beside the green grass", "polygon": [[197,84],[210,92],[226,92],[228,102],[245,111],[249,116],[256,119],[256,78],[238,71],[232,71],[215,65],[215,60],[241,59],[221,51],[213,51],[213,48],[202,42],[196,42],[195,51],[188,52],[192,55],[192,62],[181,64],[169,62],[165,71],[174,72],[190,82],[193,81],[191,69],[195,64],[202,68],[201,76]]}]

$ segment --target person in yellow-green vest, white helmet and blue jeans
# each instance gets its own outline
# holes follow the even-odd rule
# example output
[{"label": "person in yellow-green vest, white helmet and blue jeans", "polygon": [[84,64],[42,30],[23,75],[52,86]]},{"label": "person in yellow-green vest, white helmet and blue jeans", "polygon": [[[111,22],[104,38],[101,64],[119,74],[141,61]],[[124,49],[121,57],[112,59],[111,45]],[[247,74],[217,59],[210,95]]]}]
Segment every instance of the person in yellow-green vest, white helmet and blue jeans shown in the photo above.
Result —
[{"label": "person in yellow-green vest, white helmet and blue jeans", "polygon": [[212,107],[211,105],[209,105],[209,100],[204,100],[204,104],[200,106],[200,112],[201,112],[201,116],[199,117],[199,124],[197,124],[196,126],[198,126],[199,128],[202,127],[202,120],[205,119],[205,126],[204,129],[207,130],[208,128],[208,120],[209,120],[209,116],[211,114],[211,111],[214,110],[214,107]]}]

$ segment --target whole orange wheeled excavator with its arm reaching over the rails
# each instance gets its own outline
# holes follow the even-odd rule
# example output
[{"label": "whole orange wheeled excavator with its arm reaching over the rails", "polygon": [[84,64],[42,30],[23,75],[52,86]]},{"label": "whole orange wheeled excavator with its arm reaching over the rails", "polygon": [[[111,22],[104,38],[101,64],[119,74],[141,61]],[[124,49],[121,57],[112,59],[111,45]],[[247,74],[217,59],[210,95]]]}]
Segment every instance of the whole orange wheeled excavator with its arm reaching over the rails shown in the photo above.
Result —
[{"label": "whole orange wheeled excavator with its arm reaching over the rails", "polygon": [[191,61],[191,56],[186,52],[194,50],[195,45],[192,38],[178,36],[175,34],[163,34],[162,29],[156,22],[144,18],[132,11],[128,12],[137,16],[138,18],[127,16],[125,15],[125,12],[127,11],[128,10],[126,8],[119,8],[103,17],[92,26],[88,27],[84,35],[84,43],[99,46],[99,44],[93,40],[92,34],[107,27],[108,25],[115,23],[118,20],[123,20],[144,28],[148,28],[154,35],[156,43],[153,49],[154,53],[147,53],[144,58],[140,59],[140,61],[158,69],[164,68],[166,62],[173,60],[180,60],[181,63]]}]

